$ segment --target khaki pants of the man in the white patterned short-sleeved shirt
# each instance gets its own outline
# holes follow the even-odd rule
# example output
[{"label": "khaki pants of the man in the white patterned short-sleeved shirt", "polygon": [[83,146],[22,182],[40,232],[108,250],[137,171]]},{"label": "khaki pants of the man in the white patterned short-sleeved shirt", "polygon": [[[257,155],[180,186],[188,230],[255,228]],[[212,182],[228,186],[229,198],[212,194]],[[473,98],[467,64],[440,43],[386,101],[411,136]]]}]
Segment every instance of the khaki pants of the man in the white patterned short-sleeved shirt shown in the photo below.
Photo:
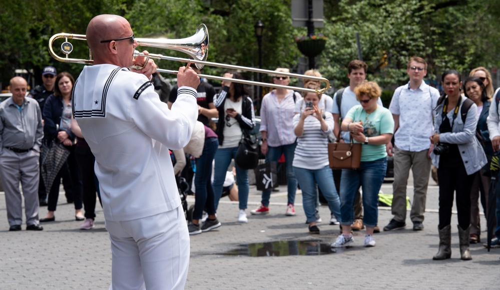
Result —
[{"label": "khaki pants of the man in the white patterned short-sleeved shirt", "polygon": [[406,185],[410,168],[413,172],[413,204],[410,219],[422,222],[425,212],[427,185],[429,183],[431,161],[428,149],[411,152],[394,147],[394,182],[392,183],[392,214],[399,222],[406,220]]}]

